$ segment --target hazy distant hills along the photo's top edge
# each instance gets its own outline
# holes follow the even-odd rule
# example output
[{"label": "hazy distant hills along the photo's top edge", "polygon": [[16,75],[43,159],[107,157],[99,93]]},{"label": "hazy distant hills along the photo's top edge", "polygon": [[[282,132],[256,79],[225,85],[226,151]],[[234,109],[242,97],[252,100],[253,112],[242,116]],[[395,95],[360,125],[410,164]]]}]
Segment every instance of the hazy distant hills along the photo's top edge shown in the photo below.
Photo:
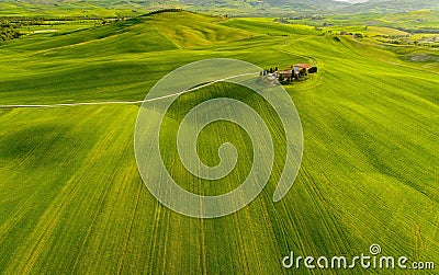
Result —
[{"label": "hazy distant hills along the photo's top edge", "polygon": [[[365,2],[364,2],[365,1]],[[4,0],[3,7],[15,4],[27,10],[33,7],[50,9],[128,9],[150,11],[162,8],[183,8],[214,13],[391,13],[421,9],[439,10],[435,0]],[[35,11],[36,12],[36,11]]]}]

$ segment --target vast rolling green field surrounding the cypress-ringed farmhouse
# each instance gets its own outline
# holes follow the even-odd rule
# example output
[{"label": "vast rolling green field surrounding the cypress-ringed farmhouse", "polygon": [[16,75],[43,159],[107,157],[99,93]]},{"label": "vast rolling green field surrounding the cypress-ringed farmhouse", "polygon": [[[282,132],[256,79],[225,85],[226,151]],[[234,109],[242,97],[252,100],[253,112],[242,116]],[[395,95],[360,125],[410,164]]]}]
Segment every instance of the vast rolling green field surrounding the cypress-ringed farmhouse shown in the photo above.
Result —
[{"label": "vast rolling green field surrounding the cypress-ringed farmhouse", "polygon": [[[0,44],[0,105],[102,103],[0,108],[0,274],[291,274],[281,264],[290,251],[359,255],[372,243],[385,255],[439,264],[439,66],[406,58],[437,50],[325,35],[305,23],[190,12],[77,26]],[[105,102],[142,101],[171,70],[206,58],[261,68],[315,61],[318,73],[285,85],[302,119],[304,154],[278,203],[283,136],[263,101],[222,83],[179,99],[161,133],[177,179],[190,175],[178,161],[176,125],[210,98],[255,106],[272,122],[280,148],[251,204],[196,219],[162,206],[138,174],[139,104]],[[251,162],[243,129],[212,125],[200,136],[200,158],[217,164],[226,140],[241,156],[238,169],[206,190],[196,180],[185,188],[218,194],[239,185]]]}]

